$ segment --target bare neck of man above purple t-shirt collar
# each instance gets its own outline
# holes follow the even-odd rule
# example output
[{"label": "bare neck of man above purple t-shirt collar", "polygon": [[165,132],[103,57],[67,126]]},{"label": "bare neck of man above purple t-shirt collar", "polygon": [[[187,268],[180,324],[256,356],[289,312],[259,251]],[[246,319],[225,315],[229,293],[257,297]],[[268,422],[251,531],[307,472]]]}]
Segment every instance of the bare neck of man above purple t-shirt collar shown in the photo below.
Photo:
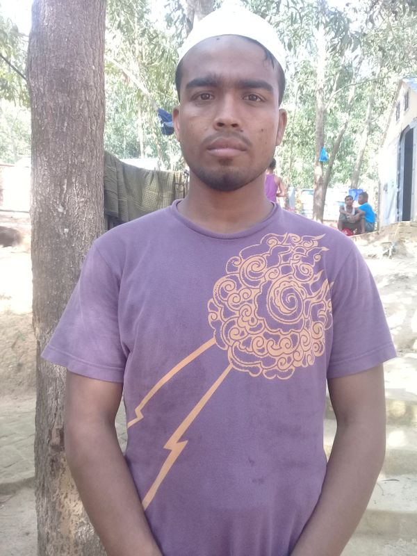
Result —
[{"label": "bare neck of man above purple t-shirt collar", "polygon": [[244,231],[265,220],[272,208],[265,197],[263,174],[228,192],[214,190],[190,176],[189,193],[178,205],[179,212],[188,220],[217,234]]}]

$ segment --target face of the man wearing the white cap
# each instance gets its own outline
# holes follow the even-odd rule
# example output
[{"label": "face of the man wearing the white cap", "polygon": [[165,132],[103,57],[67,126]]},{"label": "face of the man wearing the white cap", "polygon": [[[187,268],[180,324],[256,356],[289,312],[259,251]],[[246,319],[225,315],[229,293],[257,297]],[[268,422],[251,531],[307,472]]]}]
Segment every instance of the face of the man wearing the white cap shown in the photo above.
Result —
[{"label": "face of the man wearing the white cap", "polygon": [[265,172],[286,125],[278,79],[263,49],[236,35],[206,39],[184,56],[174,128],[202,183],[232,191]]}]

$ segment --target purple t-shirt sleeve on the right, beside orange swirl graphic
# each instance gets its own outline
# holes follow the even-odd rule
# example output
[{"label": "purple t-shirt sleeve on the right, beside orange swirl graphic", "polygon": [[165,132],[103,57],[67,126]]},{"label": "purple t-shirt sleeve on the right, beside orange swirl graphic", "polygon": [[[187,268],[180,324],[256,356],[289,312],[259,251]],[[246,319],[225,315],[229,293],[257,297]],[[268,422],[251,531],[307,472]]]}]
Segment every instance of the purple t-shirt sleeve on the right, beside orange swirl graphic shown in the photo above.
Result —
[{"label": "purple t-shirt sleeve on the right, beside orange swirl graphic", "polygon": [[332,284],[333,341],[327,378],[396,357],[377,286],[355,245]]}]

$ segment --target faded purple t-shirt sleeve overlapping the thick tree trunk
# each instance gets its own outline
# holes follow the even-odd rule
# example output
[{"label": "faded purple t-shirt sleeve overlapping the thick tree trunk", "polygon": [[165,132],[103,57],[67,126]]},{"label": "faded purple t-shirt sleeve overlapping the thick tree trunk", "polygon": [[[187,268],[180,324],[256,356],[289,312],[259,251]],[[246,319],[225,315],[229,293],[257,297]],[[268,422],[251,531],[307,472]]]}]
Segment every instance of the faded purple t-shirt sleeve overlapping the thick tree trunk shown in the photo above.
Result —
[{"label": "faded purple t-shirt sleeve overlapping the thick tree trunk", "polygon": [[120,277],[93,245],[42,357],[78,375],[123,382],[126,355],[117,318]]}]

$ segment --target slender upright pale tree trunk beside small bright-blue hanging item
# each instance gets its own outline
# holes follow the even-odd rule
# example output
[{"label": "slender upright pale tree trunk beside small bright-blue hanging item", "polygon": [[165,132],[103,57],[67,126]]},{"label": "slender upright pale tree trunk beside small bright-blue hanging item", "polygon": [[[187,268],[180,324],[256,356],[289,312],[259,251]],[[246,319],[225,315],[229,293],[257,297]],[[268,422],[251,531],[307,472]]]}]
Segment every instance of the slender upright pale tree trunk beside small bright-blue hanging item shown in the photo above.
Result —
[{"label": "slender upright pale tree trunk beside small bright-blue hanging item", "polygon": [[325,72],[326,72],[326,42],[325,30],[322,26],[317,31],[317,81],[316,81],[316,145],[314,157],[314,193],[313,218],[323,221],[325,212],[326,192],[323,188],[323,165],[319,161],[320,152],[325,142]]}]

